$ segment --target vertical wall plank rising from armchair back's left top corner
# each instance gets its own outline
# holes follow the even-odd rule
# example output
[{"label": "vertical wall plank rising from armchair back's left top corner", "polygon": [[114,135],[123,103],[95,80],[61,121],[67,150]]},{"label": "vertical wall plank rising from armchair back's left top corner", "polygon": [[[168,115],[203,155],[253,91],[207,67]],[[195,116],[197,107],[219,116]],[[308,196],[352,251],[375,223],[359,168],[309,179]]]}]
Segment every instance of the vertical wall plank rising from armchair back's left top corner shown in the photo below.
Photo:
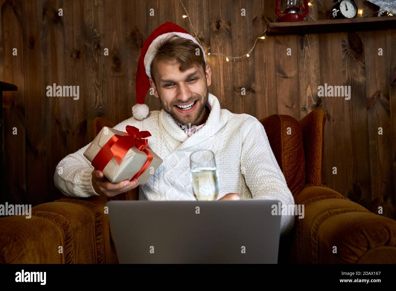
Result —
[{"label": "vertical wall plank rising from armchair back's left top corner", "polygon": [[97,116],[107,118],[107,80],[104,79],[106,47],[103,40],[103,0],[84,1],[85,37],[85,99],[88,141],[93,140],[93,120]]}]

